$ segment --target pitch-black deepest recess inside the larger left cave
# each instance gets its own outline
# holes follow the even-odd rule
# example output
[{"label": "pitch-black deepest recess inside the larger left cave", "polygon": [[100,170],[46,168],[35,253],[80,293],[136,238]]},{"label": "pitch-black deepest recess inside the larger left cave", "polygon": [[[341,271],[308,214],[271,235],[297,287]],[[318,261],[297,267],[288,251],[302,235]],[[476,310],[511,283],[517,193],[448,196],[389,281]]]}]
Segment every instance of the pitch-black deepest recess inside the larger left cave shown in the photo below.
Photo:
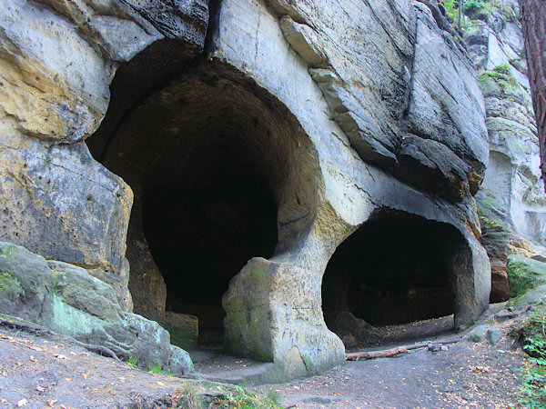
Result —
[{"label": "pitch-black deepest recess inside the larger left cave", "polygon": [[[167,311],[199,318],[200,342],[221,342],[222,294],[254,256],[277,244],[277,206],[237,135],[197,135],[177,184],[164,185],[173,164],[157,161],[143,198],[144,234],[167,285]],[[159,183],[155,183],[159,181]]]}]

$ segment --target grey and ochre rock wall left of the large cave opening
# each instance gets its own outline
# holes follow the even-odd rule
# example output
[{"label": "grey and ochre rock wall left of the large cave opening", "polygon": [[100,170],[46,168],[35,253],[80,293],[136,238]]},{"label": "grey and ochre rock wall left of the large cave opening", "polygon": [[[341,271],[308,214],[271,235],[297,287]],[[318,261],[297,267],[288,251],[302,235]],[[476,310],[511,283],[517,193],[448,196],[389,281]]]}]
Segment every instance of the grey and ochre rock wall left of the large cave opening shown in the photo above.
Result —
[{"label": "grey and ochre rock wall left of the large cave opening", "polygon": [[121,63],[163,38],[197,55],[207,19],[197,0],[3,4],[0,239],[118,275],[107,281],[118,283],[123,307],[132,308],[124,255],[133,195],[82,141],[106,114]]}]

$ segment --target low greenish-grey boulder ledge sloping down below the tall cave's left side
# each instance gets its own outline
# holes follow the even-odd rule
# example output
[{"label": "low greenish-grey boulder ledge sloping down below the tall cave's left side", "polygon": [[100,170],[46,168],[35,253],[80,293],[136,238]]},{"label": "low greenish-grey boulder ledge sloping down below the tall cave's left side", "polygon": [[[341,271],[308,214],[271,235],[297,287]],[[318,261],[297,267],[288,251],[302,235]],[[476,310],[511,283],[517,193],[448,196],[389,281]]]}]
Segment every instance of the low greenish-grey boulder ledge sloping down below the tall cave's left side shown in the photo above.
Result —
[{"label": "low greenish-grey boulder ledge sloping down below the tall cave's left side", "polygon": [[189,355],[169,344],[169,334],[153,321],[122,310],[114,289],[74,264],[46,262],[24,247],[0,243],[0,313],[43,324],[87,344],[106,346],[134,358],[186,374]]}]

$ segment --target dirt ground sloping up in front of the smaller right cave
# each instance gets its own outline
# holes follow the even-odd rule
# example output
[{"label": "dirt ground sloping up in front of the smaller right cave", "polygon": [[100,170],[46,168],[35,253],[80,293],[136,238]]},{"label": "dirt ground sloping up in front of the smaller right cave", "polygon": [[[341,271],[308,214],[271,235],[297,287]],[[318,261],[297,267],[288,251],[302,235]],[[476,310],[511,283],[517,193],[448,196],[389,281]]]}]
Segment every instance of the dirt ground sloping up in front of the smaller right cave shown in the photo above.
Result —
[{"label": "dirt ground sloping up in front of the smaller right cave", "polygon": [[518,405],[521,350],[504,339],[495,346],[460,342],[449,351],[426,349],[393,358],[348,362],[326,374],[264,385],[286,406],[491,407]]}]

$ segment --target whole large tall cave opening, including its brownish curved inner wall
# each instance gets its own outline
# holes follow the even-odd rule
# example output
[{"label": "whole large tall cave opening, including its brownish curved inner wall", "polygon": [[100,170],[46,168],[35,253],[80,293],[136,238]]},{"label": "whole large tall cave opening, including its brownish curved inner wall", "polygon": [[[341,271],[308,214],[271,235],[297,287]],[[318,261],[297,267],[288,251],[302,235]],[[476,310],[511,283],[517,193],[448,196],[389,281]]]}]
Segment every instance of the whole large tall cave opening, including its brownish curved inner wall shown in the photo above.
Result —
[{"label": "whole large tall cave opening, including its brownish curved inner wall", "polygon": [[115,78],[88,140],[135,195],[134,311],[164,324],[174,344],[221,344],[230,279],[252,257],[287,251],[311,223],[316,155],[288,109],[233,67],[185,67],[124,105],[136,68]]}]

